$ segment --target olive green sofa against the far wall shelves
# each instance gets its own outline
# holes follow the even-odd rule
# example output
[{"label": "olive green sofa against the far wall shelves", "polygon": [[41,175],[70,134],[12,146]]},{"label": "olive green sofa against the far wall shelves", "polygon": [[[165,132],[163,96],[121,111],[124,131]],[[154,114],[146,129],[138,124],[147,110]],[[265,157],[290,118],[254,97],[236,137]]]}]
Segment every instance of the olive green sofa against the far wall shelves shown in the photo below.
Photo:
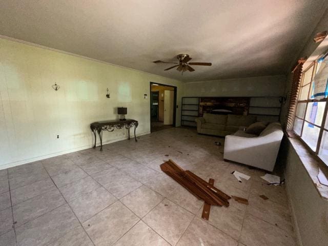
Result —
[{"label": "olive green sofa against the far wall shelves", "polygon": [[224,137],[250,126],[256,122],[256,116],[204,113],[203,117],[196,118],[195,121],[197,133]]}]

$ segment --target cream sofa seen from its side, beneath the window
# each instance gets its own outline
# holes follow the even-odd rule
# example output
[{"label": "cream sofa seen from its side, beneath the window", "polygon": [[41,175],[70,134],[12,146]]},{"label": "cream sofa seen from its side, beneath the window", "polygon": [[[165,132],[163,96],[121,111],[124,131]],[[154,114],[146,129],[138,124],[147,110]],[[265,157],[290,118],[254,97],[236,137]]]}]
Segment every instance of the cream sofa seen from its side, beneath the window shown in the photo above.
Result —
[{"label": "cream sofa seen from its side, beneath the window", "polygon": [[223,158],[272,172],[282,136],[279,122],[269,124],[259,136],[237,131],[226,136]]}]

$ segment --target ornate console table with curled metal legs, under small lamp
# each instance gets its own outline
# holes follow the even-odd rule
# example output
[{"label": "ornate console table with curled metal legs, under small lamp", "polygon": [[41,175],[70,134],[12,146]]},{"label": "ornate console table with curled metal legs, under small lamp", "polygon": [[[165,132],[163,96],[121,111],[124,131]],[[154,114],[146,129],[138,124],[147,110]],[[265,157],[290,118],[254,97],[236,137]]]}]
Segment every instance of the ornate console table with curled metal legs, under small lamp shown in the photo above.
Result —
[{"label": "ornate console table with curled metal legs, under small lamp", "polygon": [[134,119],[126,119],[126,120],[104,120],[104,121],[98,121],[93,122],[90,124],[91,131],[94,134],[94,146],[93,148],[96,148],[96,140],[97,140],[97,132],[100,139],[100,151],[103,151],[103,131],[112,132],[115,128],[122,129],[122,128],[128,129],[129,134],[129,140],[130,140],[130,128],[134,127],[134,139],[137,141],[136,135],[135,135],[135,129],[138,127],[138,121]]}]

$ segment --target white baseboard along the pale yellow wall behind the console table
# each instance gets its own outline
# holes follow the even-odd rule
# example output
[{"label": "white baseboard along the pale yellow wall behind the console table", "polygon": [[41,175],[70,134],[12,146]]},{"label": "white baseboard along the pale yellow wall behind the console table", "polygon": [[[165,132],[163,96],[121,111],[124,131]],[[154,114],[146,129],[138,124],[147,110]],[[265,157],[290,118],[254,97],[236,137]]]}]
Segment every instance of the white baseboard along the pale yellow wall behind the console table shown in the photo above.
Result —
[{"label": "white baseboard along the pale yellow wall behind the console table", "polygon": [[[147,134],[150,134],[150,132],[139,133],[137,135],[137,137],[142,136],[142,135],[147,135]],[[124,136],[124,137],[116,138],[116,139],[113,139],[113,140],[108,140],[108,141],[103,142],[103,145],[111,144],[112,142],[118,142],[118,141],[125,140],[125,139],[128,139],[128,137]],[[131,138],[131,140],[134,140],[134,139]],[[97,146],[100,146],[100,144],[97,144]],[[64,150],[64,151],[51,153],[51,154],[47,154],[47,155],[36,156],[36,157],[24,159],[24,160],[9,162],[9,163],[6,163],[4,165],[1,165],[0,170],[16,167],[16,166],[19,166],[19,165],[23,165],[23,164],[38,161],[38,160],[43,160],[43,159],[55,157],[55,156],[58,156],[58,155],[65,155],[65,154],[73,153],[73,152],[80,151],[80,150],[91,149],[92,147],[93,147],[93,145],[87,145],[87,146],[78,147],[78,148],[75,148],[75,149]]]}]

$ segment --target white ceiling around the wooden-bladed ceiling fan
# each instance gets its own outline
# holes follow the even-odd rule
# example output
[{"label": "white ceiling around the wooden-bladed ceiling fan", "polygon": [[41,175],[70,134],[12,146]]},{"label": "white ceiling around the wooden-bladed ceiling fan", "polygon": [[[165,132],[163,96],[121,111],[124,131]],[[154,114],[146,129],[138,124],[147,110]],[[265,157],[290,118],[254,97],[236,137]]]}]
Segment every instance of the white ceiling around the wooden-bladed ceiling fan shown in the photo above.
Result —
[{"label": "white ceiling around the wooden-bladed ceiling fan", "polygon": [[[183,81],[285,74],[326,0],[0,0],[0,34]],[[188,53],[183,75],[154,60]]]}]

